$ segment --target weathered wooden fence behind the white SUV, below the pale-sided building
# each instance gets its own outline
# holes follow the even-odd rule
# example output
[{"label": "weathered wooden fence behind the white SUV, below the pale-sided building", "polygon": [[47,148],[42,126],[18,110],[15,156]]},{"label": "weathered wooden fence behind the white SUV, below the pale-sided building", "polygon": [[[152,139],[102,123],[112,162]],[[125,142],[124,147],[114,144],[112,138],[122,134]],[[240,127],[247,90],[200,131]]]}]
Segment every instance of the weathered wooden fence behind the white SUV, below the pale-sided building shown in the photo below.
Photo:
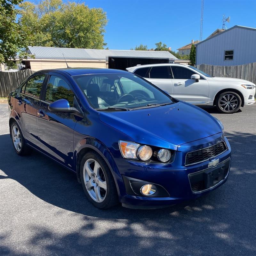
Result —
[{"label": "weathered wooden fence behind the white SUV, below the pale-sided building", "polygon": [[234,77],[256,83],[256,62],[239,66],[197,65],[196,68],[211,76]]}]

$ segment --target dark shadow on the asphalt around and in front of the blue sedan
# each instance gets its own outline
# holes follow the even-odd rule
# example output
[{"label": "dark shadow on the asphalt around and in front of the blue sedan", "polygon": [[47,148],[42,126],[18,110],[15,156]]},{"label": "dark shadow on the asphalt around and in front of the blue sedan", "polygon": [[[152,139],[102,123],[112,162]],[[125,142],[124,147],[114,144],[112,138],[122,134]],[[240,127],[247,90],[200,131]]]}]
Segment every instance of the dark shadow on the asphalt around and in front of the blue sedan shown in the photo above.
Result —
[{"label": "dark shadow on the asphalt around and in front of the blue sedan", "polygon": [[[79,213],[81,225],[61,233],[37,223],[27,227],[27,252],[4,242],[2,255],[255,255],[255,134],[227,133],[232,148],[228,181],[195,201],[165,209],[99,210],[85,199],[76,175],[45,156],[17,156],[10,135],[0,136],[2,178],[18,181],[45,202]],[[40,182],[39,182],[40,181]],[[181,188],[182,189],[182,188]],[[60,213],[61,214],[61,213]],[[60,215],[53,216],[59,218]],[[22,248],[23,248],[22,247]]]}]

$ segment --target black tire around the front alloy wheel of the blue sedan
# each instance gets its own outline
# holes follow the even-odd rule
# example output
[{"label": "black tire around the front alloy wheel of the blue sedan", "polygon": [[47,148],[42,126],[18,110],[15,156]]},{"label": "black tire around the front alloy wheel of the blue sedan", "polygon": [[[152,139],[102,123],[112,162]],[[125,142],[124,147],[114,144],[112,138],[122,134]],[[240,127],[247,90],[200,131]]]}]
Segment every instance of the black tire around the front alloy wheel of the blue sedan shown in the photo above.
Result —
[{"label": "black tire around the front alloy wheel of the blue sedan", "polygon": [[[95,199],[92,199],[92,196],[89,194],[89,193],[93,193],[95,191],[96,187],[92,187],[90,189],[90,191],[92,190],[93,192],[90,192],[90,191],[88,192],[87,188],[85,186],[85,184],[88,182],[88,180],[87,181],[85,180],[86,177],[84,176],[84,165],[85,165],[85,163],[87,163],[86,161],[90,162],[90,159],[95,160],[100,164],[100,171],[99,172],[101,172],[101,175],[102,175],[102,173],[104,174],[104,177],[102,177],[101,180],[104,180],[104,178],[105,178],[105,182],[106,182],[106,185],[107,185],[106,192],[104,191],[104,189],[99,188],[99,189],[102,189],[103,195],[104,195],[104,192],[105,192],[105,198],[100,203],[96,202]],[[93,163],[92,163],[92,166],[93,166]],[[81,165],[80,165],[80,174],[81,174],[81,182],[82,182],[82,186],[83,186],[83,189],[84,189],[85,196],[87,197],[87,199],[94,206],[96,206],[97,208],[100,208],[100,209],[107,209],[107,208],[110,208],[110,207],[118,204],[118,195],[117,195],[117,191],[116,191],[116,184],[115,184],[114,178],[113,178],[112,173],[110,172],[110,170],[108,168],[108,165],[106,164],[104,159],[99,154],[97,154],[94,151],[89,151],[88,153],[86,153],[84,155],[84,157],[82,158],[82,161],[81,161]],[[89,178],[89,177],[87,177],[87,178]],[[100,176],[100,178],[101,178],[101,176]],[[92,178],[92,177],[89,178],[89,181],[92,180],[92,179],[94,179],[94,178]],[[94,186],[95,186],[94,180],[92,182],[94,183]]]}]

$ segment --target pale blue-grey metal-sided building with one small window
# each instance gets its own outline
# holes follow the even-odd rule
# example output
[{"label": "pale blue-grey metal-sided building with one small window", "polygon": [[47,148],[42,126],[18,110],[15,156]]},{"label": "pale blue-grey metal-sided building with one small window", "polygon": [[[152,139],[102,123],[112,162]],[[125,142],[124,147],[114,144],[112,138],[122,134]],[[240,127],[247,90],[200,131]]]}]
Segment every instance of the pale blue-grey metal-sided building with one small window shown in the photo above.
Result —
[{"label": "pale blue-grey metal-sided building with one small window", "polygon": [[196,65],[236,66],[256,62],[256,28],[234,26],[217,32],[195,44]]}]

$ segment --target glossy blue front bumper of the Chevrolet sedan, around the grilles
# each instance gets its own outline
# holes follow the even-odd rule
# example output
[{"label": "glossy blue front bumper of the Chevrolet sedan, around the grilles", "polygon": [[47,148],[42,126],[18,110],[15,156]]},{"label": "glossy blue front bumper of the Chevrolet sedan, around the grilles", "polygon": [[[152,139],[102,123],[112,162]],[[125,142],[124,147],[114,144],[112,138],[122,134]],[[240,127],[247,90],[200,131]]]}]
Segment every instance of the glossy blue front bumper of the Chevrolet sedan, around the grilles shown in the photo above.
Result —
[{"label": "glossy blue front bumper of the Chevrolet sedan, around the grilles", "polygon": [[[211,140],[211,142],[208,140]],[[217,182],[214,181],[215,183],[212,184],[212,186],[203,189],[203,191],[193,192],[190,183],[191,179],[189,177],[191,174],[194,175],[195,173],[209,170],[208,164],[211,161],[206,160],[202,163],[185,166],[181,163],[184,163],[186,152],[191,151],[191,149],[194,150],[196,148],[214,144],[216,141],[220,140],[225,140],[228,149],[216,157],[216,159],[219,159],[219,164],[211,168],[217,169],[223,162],[229,161],[223,179],[217,180]],[[202,144],[202,141],[205,141],[205,143]],[[231,162],[231,149],[228,140],[223,135],[220,136],[220,134],[218,134],[197,142],[184,144],[180,150],[181,151],[177,151],[175,160],[171,164],[147,164],[140,161],[116,159],[116,164],[123,178],[123,186],[119,186],[120,202],[123,206],[128,208],[158,208],[177,204],[184,200],[191,200],[202,196],[226,182]],[[132,193],[131,190],[127,189],[127,180],[130,178],[141,180],[145,183],[156,184],[157,186],[162,187],[167,194],[163,192],[160,196],[147,197],[141,196],[139,193],[136,193],[136,191],[135,193]]]}]

